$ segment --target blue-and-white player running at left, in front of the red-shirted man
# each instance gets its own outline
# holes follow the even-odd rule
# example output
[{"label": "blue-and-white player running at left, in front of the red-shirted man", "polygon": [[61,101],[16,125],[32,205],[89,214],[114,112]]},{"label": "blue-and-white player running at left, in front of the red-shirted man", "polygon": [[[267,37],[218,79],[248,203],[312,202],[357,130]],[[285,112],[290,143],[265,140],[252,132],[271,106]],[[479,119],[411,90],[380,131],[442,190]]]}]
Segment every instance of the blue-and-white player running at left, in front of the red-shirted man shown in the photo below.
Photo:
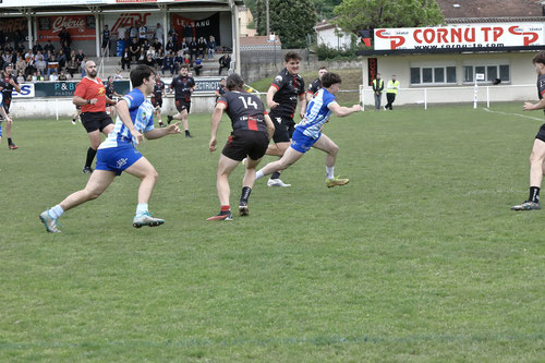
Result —
[{"label": "blue-and-white player running at left, in front of the red-shirted man", "polygon": [[179,134],[180,122],[166,129],[154,129],[154,107],[146,99],[155,85],[154,72],[149,66],[138,65],[131,72],[131,82],[134,89],[116,106],[118,113],[116,126],[98,147],[97,166],[85,189],[69,195],[51,209],[40,214],[39,218],[46,225],[48,232],[60,232],[57,228],[57,219],[65,210],[97,198],[122,171],[141,179],[138,205],[133,226],[136,228],[155,227],[165,222],[162,219],[153,218],[147,210],[158,174],[136,146],[144,141],[144,136],[147,140],[154,140],[168,134]]}]

